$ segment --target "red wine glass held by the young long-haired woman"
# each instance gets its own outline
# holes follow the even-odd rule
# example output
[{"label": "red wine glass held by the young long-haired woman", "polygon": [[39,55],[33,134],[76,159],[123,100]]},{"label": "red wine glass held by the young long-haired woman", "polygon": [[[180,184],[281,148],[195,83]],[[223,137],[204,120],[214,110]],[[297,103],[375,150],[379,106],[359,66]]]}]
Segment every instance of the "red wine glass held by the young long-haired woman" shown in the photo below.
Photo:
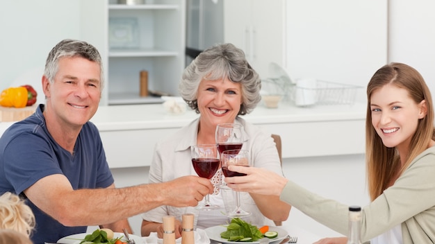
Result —
[{"label": "red wine glass held by the young long-haired woman", "polygon": [[[247,150],[226,150],[220,154],[221,164],[222,164],[222,173],[224,173],[225,177],[235,177],[235,176],[244,176],[246,174],[238,173],[235,171],[229,171],[228,166],[237,165],[237,166],[245,166],[249,167],[250,162],[248,160],[248,151]],[[251,215],[250,212],[243,210],[240,207],[240,192],[236,191],[236,209],[227,213],[227,216],[231,218],[236,217],[245,217]]]}]

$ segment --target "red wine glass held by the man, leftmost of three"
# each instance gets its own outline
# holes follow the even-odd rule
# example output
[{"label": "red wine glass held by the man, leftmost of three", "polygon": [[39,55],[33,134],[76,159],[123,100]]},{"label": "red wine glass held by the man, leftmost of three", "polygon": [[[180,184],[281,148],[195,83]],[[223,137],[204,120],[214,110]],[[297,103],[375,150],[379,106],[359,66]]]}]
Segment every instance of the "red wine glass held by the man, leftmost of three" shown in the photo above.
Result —
[{"label": "red wine glass held by the man, leftmost of three", "polygon": [[[207,178],[208,180],[215,175],[219,168],[219,150],[216,144],[199,144],[190,148],[192,165],[199,177]],[[205,196],[204,204],[198,204],[196,209],[211,210],[217,209],[219,206],[211,205],[209,195]]]}]

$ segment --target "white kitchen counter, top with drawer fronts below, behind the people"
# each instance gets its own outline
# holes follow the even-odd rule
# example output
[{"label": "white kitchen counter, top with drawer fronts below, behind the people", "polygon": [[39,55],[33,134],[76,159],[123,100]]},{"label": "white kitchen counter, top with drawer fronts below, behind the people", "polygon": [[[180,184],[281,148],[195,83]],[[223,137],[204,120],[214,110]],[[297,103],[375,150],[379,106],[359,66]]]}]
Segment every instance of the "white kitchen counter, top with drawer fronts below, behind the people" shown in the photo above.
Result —
[{"label": "white kitchen counter, top with drawer fronts below, behind the people", "polygon": [[[162,104],[101,106],[91,119],[100,130],[111,168],[151,164],[155,143],[199,114],[169,114]],[[283,158],[364,153],[366,104],[276,109],[258,105],[245,116],[250,123],[281,135]],[[13,122],[0,123],[0,133]]]}]

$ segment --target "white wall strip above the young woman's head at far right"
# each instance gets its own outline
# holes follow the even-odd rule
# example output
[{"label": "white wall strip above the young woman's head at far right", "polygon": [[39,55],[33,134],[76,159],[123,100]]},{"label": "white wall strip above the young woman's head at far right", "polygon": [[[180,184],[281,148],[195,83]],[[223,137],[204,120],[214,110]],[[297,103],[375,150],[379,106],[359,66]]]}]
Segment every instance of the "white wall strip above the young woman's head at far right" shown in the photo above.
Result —
[{"label": "white wall strip above the young woman's head at far right", "polygon": [[425,78],[435,96],[435,1],[390,0],[388,62],[404,62]]}]

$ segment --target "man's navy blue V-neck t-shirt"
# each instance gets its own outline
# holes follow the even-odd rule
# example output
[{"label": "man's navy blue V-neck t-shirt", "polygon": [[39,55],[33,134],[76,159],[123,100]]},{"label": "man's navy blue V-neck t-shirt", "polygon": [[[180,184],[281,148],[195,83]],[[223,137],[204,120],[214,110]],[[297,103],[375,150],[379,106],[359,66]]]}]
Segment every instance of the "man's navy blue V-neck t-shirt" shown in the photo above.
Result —
[{"label": "man's navy blue V-neck t-shirt", "polygon": [[[36,112],[14,123],[0,138],[0,195],[6,191],[22,195],[42,177],[63,174],[73,189],[106,188],[113,184],[97,127],[85,123],[71,155],[49,134],[39,105]],[[92,199],[83,199],[91,201]],[[58,239],[86,232],[86,226],[65,227],[26,201],[35,214],[36,227],[31,236],[34,244],[55,243]],[[65,209],[72,213],[81,209]],[[89,213],[92,218],[92,213]]]}]

